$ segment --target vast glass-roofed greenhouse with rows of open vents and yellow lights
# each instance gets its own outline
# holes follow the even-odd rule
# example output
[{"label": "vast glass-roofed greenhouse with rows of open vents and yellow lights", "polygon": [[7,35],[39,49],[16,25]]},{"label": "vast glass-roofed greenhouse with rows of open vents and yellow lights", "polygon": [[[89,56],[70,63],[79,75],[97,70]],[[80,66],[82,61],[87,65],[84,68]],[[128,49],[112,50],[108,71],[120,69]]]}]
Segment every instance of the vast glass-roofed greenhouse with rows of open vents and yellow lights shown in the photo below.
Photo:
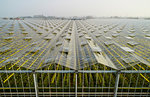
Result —
[{"label": "vast glass-roofed greenhouse with rows of open vents and yellow lights", "polygon": [[150,97],[147,20],[32,18],[0,28],[1,97]]}]

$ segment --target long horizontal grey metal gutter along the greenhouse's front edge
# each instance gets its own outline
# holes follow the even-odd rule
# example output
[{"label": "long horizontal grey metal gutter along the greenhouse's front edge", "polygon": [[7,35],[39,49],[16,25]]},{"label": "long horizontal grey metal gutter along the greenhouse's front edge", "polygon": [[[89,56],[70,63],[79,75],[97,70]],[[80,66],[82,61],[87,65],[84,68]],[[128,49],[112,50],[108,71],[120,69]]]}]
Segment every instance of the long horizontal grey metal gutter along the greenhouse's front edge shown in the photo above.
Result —
[{"label": "long horizontal grey metal gutter along the greenhouse's front edge", "polygon": [[[0,73],[117,73],[117,70],[0,70]],[[150,70],[120,70],[120,73],[150,73]]]}]

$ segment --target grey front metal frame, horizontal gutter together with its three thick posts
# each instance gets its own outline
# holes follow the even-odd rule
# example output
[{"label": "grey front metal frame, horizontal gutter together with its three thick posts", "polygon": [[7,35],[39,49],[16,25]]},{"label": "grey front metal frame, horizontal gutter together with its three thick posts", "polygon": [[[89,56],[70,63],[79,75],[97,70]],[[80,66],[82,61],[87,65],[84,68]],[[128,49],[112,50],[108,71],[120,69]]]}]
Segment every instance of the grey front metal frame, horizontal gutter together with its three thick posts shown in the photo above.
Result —
[{"label": "grey front metal frame, horizontal gutter together with its three thick posts", "polygon": [[76,81],[75,81],[75,97],[77,97],[77,74],[78,73],[115,73],[116,74],[116,81],[114,87],[114,97],[117,97],[118,91],[118,84],[119,84],[119,77],[121,73],[150,73],[150,70],[0,70],[0,73],[33,73],[34,78],[34,87],[35,87],[35,94],[38,97],[38,82],[36,78],[37,73],[75,73],[76,74]]}]

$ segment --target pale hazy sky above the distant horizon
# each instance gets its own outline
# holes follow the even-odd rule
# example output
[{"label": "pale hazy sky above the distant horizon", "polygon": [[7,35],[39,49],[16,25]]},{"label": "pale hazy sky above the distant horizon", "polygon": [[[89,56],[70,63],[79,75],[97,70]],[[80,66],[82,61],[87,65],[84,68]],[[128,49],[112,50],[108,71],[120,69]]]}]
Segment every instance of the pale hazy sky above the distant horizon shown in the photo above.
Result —
[{"label": "pale hazy sky above the distant horizon", "polygon": [[150,16],[150,0],[0,0],[4,16]]}]

